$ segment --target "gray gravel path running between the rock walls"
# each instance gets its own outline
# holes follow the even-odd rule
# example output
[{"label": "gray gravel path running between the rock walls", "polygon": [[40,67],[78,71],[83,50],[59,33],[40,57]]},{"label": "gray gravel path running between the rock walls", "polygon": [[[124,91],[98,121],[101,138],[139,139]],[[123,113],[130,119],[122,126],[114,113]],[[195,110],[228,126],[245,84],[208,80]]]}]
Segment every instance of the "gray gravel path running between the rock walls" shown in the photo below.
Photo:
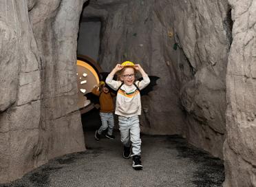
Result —
[{"label": "gray gravel path running between the rock walls", "polygon": [[181,137],[142,135],[143,170],[134,170],[123,159],[118,132],[116,140],[94,140],[85,133],[87,151],[52,159],[10,186],[222,186],[224,166],[220,159],[186,143]]}]

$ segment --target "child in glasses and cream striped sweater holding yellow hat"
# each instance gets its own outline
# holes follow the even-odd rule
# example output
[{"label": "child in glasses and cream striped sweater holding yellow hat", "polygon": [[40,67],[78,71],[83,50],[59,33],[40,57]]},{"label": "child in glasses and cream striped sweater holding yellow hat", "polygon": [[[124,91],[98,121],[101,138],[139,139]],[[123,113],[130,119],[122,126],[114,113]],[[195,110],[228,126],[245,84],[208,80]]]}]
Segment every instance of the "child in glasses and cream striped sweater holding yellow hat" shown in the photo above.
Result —
[{"label": "child in glasses and cream striped sweater holding yellow hat", "polygon": [[[140,72],[143,80],[135,82],[136,71]],[[114,75],[119,72],[120,80],[113,80]],[[116,115],[118,115],[121,142],[124,145],[122,157],[133,159],[132,167],[141,170],[140,157],[140,122],[138,115],[141,113],[140,90],[149,85],[149,76],[140,65],[134,65],[129,61],[117,64],[106,78],[106,83],[114,90],[116,96]],[[131,154],[132,149],[132,154]]]}]

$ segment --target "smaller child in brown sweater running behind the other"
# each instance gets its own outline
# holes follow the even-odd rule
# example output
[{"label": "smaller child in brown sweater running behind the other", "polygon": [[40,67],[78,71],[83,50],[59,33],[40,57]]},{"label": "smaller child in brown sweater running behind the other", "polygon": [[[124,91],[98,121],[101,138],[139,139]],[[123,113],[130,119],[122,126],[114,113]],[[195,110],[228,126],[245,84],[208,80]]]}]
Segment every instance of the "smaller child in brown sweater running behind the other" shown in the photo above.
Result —
[{"label": "smaller child in brown sweater running behind the other", "polygon": [[101,120],[100,129],[96,130],[94,137],[97,141],[100,140],[100,135],[107,129],[107,134],[105,136],[114,140],[115,136],[112,135],[114,129],[114,104],[112,97],[114,94],[109,92],[104,81],[100,81],[99,86],[92,89],[92,94],[99,97]]}]

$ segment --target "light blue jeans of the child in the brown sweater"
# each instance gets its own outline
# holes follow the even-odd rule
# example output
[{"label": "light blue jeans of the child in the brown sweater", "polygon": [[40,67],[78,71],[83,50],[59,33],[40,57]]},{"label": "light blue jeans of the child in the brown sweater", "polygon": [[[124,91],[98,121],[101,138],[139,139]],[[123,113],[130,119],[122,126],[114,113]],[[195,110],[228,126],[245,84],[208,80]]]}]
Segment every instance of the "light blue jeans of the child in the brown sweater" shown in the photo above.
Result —
[{"label": "light blue jeans of the child in the brown sweater", "polygon": [[101,134],[107,129],[107,134],[112,135],[114,129],[114,115],[113,113],[100,112],[101,126],[98,133]]}]

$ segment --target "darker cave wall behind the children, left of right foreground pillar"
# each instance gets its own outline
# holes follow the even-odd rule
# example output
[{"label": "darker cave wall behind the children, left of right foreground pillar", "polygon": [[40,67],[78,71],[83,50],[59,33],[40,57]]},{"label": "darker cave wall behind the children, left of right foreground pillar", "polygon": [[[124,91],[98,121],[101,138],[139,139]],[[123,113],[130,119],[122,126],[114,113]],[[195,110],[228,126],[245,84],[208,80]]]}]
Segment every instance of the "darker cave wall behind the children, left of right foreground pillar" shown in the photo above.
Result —
[{"label": "darker cave wall behind the children, left of right foreground pillar", "polygon": [[231,43],[227,1],[90,1],[102,21],[100,65],[142,64],[160,76],[142,97],[141,130],[180,134],[222,157],[226,65]]}]

